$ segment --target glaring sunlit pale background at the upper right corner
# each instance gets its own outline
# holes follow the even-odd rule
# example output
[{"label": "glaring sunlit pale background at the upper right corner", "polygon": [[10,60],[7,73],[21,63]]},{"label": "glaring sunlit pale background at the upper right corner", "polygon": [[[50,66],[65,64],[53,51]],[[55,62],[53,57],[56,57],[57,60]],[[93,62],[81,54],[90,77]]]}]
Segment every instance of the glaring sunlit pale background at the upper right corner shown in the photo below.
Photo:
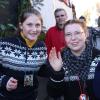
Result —
[{"label": "glaring sunlit pale background at the upper right corner", "polygon": [[77,18],[83,15],[86,17],[89,26],[97,25],[100,12],[97,12],[96,4],[100,4],[100,0],[72,0],[72,2],[75,5]]}]

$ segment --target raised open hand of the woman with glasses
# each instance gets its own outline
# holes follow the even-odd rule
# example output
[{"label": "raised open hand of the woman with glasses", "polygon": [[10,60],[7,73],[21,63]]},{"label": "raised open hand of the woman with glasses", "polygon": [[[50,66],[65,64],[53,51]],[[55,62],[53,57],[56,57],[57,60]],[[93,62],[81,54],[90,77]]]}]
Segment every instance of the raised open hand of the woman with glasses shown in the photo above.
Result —
[{"label": "raised open hand of the woman with glasses", "polygon": [[61,53],[56,53],[55,47],[50,50],[49,53],[49,63],[54,71],[60,71],[62,68],[62,58]]}]

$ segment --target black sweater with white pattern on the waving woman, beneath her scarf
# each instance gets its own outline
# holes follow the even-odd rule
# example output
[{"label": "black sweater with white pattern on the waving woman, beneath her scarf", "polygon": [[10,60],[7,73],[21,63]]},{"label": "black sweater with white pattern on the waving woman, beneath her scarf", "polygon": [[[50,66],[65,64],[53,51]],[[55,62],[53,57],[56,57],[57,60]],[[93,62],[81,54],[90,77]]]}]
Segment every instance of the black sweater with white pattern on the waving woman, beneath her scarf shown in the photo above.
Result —
[{"label": "black sweater with white pattern on the waving woman, beneath her scarf", "polygon": [[[65,52],[65,51],[64,51]],[[65,53],[64,53],[65,54]],[[92,62],[89,68],[87,79],[84,82],[80,81],[82,91],[85,88],[85,93],[89,96],[89,100],[96,100],[93,91],[93,79],[95,68],[100,60],[100,51],[93,48],[92,50]],[[66,62],[63,59],[63,63]],[[48,82],[48,94],[52,97],[64,95],[64,100],[79,100],[81,94],[79,79],[77,75],[69,75],[67,65],[64,66],[59,72],[55,72],[51,68],[51,77]]]}]

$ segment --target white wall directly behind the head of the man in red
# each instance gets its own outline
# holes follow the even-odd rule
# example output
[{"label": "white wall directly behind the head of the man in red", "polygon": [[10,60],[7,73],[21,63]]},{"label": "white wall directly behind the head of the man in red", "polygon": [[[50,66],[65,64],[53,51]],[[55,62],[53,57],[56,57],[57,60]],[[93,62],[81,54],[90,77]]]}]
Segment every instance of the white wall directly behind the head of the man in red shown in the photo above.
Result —
[{"label": "white wall directly behind the head of the man in red", "polygon": [[40,12],[43,16],[46,29],[55,25],[54,11],[56,8],[64,8],[67,11],[68,19],[72,19],[72,9],[67,7],[63,2],[59,0],[44,0]]}]

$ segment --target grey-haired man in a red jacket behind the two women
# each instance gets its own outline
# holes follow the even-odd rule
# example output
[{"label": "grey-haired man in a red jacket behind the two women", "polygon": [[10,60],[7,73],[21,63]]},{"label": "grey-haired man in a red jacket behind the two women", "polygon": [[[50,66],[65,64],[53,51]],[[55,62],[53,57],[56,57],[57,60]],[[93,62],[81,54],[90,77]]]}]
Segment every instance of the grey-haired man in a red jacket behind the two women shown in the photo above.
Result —
[{"label": "grey-haired man in a red jacket behind the two women", "polygon": [[63,28],[67,20],[67,13],[64,9],[57,8],[54,12],[54,16],[56,25],[48,29],[45,37],[48,55],[52,47],[56,48],[56,52],[61,51],[61,49],[65,47]]}]

